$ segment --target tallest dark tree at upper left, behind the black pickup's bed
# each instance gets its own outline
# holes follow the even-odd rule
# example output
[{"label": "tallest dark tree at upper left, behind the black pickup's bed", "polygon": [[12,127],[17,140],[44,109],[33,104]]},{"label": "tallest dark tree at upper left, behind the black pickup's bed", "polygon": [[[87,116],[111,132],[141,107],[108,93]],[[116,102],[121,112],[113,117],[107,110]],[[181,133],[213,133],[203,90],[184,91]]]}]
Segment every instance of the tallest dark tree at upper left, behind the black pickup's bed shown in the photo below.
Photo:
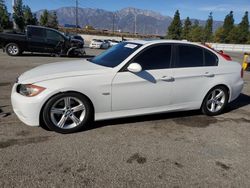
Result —
[{"label": "tallest dark tree at upper left, behind the black pickup's bed", "polygon": [[18,0],[16,1],[13,13],[13,19],[18,26],[18,28],[23,31],[25,26],[24,15],[23,15],[23,1]]}]

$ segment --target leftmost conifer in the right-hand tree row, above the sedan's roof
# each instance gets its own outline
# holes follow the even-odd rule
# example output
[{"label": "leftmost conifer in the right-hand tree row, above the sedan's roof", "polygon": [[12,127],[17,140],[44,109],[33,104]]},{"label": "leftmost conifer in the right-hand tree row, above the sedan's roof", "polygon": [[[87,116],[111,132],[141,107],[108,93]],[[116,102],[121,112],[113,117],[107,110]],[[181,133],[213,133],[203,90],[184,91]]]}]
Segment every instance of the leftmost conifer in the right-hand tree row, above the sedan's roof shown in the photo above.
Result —
[{"label": "leftmost conifer in the right-hand tree row, above the sedan's roof", "polygon": [[174,19],[173,19],[172,23],[168,27],[167,38],[180,40],[181,39],[181,32],[182,32],[182,24],[181,24],[179,10],[177,10],[175,12]]}]

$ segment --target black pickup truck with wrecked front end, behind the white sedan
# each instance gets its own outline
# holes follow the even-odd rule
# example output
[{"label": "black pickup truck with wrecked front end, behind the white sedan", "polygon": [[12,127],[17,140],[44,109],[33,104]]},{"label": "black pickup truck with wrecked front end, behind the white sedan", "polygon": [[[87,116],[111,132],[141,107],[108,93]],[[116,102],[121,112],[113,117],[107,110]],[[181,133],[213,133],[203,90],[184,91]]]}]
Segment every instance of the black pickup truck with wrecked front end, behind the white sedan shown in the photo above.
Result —
[{"label": "black pickup truck with wrecked front end, behind the white sedan", "polygon": [[61,56],[85,54],[82,41],[41,26],[29,25],[25,33],[0,33],[0,43],[10,56],[18,56],[23,52],[52,53]]}]

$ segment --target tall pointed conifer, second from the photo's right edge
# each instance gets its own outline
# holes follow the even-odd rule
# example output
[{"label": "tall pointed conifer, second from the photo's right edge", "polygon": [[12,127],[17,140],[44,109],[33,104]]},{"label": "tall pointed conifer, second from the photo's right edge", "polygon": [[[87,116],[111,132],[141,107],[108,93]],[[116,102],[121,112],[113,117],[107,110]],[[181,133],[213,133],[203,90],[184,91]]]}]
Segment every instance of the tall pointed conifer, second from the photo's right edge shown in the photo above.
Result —
[{"label": "tall pointed conifer, second from the photo's right edge", "polygon": [[233,11],[230,11],[230,13],[225,17],[224,24],[223,24],[223,36],[222,36],[222,42],[229,43],[230,38],[229,38],[229,33],[232,31],[234,28],[234,16],[233,16]]}]

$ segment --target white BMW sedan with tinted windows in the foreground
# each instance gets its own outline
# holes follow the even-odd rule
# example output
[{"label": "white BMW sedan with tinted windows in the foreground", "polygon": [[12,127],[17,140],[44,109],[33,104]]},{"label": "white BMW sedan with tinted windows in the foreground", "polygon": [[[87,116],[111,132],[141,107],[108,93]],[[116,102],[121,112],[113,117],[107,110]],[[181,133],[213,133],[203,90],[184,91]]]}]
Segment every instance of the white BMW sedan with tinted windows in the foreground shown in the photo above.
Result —
[{"label": "white BMW sedan with tinted windows in the foreground", "polygon": [[21,121],[72,133],[92,120],[201,109],[221,114],[243,88],[243,71],[205,46],[122,42],[92,59],[42,65],[12,90]]}]

